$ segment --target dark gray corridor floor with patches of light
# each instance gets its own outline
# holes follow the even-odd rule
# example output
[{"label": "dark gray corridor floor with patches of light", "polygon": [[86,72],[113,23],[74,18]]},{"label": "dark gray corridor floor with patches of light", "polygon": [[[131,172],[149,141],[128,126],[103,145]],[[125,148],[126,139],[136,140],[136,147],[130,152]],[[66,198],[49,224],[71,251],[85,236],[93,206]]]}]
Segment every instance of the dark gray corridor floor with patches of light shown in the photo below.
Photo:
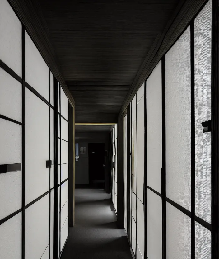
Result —
[{"label": "dark gray corridor floor with patches of light", "polygon": [[61,259],[132,259],[125,231],[117,229],[110,195],[101,189],[75,189],[75,227]]}]

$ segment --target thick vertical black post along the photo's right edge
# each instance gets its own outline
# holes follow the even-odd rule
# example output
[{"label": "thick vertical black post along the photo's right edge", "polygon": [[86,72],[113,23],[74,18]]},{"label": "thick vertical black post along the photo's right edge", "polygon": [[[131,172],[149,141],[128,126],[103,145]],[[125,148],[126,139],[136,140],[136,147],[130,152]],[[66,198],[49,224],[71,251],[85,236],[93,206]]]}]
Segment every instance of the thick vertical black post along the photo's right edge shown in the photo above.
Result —
[{"label": "thick vertical black post along the photo's right edge", "polygon": [[219,203],[219,3],[212,0],[212,259],[219,254],[219,227],[218,227],[218,203]]}]

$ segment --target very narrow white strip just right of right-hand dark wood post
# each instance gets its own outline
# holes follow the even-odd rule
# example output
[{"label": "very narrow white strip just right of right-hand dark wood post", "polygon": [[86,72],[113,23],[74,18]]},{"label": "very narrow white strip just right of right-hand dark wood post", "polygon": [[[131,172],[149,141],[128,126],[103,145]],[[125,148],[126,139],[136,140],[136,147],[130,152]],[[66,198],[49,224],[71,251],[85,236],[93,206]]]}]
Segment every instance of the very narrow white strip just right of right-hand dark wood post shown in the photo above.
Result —
[{"label": "very narrow white strip just right of right-hand dark wood post", "polygon": [[127,229],[127,115],[124,117],[124,227]]}]

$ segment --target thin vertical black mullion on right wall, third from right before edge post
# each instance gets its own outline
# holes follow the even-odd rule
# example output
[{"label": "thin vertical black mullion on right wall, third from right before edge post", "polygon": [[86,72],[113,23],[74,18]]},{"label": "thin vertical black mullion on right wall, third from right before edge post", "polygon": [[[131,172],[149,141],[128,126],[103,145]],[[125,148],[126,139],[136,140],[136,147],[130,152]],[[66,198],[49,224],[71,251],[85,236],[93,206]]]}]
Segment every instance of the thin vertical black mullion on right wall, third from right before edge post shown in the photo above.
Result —
[{"label": "thin vertical black mullion on right wall, third from right before edge post", "polygon": [[144,83],[144,258],[147,258],[147,94]]}]

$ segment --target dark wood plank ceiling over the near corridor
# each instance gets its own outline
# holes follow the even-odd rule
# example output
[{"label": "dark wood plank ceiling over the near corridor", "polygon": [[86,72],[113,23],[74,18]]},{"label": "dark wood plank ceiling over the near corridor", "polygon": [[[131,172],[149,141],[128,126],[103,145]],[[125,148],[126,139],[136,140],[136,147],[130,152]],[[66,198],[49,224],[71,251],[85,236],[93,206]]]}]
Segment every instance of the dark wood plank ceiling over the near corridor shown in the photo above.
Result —
[{"label": "dark wood plank ceiling over the near corridor", "polygon": [[38,0],[75,122],[115,123],[130,86],[179,0]]}]

